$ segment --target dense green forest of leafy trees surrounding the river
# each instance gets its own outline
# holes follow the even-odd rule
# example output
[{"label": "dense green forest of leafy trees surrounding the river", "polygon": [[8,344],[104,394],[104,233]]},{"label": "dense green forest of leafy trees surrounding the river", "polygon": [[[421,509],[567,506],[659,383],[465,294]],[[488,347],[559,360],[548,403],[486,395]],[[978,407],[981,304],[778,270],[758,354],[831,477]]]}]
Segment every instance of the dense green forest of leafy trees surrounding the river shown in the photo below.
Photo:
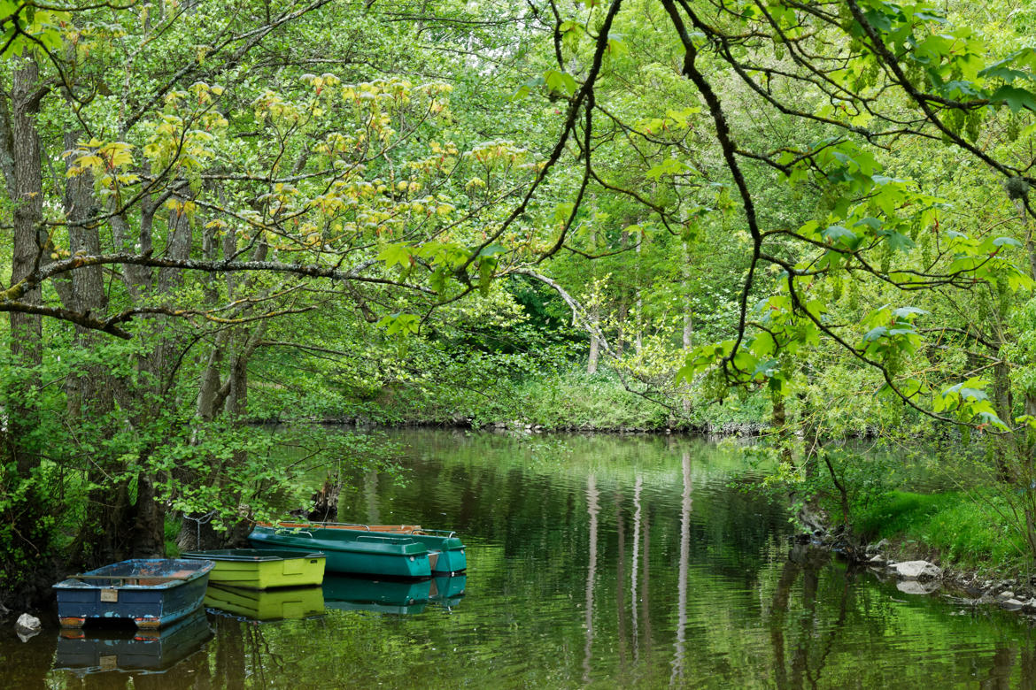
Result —
[{"label": "dense green forest of leafy trees surrounding the river", "polygon": [[4,596],[392,467],[327,420],[752,428],[807,522],[1036,553],[1029,3],[0,18]]}]

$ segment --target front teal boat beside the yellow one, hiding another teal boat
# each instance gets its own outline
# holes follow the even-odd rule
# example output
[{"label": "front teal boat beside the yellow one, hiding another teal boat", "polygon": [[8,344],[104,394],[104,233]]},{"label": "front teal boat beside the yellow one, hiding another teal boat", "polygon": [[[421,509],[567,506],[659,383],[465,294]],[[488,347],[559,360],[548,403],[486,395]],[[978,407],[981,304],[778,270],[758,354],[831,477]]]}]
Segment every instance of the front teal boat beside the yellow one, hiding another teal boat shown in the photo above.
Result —
[{"label": "front teal boat beside the yellow one, hiding another teal boat", "polygon": [[322,551],[327,557],[327,572],[401,578],[432,576],[428,546],[409,536],[282,522],[256,524],[249,541],[256,548],[307,554]]}]

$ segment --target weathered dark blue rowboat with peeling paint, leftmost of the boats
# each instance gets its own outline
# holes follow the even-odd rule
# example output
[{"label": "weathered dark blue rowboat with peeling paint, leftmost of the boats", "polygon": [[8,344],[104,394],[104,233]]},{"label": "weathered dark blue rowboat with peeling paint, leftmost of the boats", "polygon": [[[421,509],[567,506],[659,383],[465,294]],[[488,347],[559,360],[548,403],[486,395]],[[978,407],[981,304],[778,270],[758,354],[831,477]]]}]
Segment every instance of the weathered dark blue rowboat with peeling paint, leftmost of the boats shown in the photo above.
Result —
[{"label": "weathered dark blue rowboat with peeling paint, leftmost of the boats", "polygon": [[65,628],[87,621],[130,620],[156,629],[201,607],[211,561],[135,559],[71,575],[54,586]]}]

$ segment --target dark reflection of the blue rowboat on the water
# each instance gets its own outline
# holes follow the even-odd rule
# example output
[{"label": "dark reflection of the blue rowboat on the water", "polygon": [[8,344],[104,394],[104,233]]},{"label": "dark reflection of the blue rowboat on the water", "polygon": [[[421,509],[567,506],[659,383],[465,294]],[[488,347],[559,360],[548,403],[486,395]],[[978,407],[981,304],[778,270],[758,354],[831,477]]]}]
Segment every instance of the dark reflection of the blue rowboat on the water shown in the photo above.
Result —
[{"label": "dark reflection of the blue rowboat on the water", "polygon": [[54,667],[77,676],[110,670],[161,673],[212,638],[203,609],[161,630],[64,628]]}]

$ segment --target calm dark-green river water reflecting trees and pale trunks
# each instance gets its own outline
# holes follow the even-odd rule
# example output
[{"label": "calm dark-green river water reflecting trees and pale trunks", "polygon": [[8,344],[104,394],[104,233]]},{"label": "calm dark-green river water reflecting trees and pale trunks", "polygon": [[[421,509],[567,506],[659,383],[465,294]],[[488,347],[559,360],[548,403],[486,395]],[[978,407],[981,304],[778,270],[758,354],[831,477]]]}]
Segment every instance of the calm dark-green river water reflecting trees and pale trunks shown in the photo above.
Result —
[{"label": "calm dark-green river water reflecting trees and pale trunks", "polygon": [[751,474],[737,452],[678,437],[392,437],[405,482],[358,477],[340,517],[457,530],[468,545],[463,579],[334,578],[316,601],[283,609],[308,618],[256,623],[210,609],[157,639],[51,627],[21,642],[6,630],[0,686],[1036,683],[1021,618],[903,594],[792,549],[786,511],[738,488]]}]

